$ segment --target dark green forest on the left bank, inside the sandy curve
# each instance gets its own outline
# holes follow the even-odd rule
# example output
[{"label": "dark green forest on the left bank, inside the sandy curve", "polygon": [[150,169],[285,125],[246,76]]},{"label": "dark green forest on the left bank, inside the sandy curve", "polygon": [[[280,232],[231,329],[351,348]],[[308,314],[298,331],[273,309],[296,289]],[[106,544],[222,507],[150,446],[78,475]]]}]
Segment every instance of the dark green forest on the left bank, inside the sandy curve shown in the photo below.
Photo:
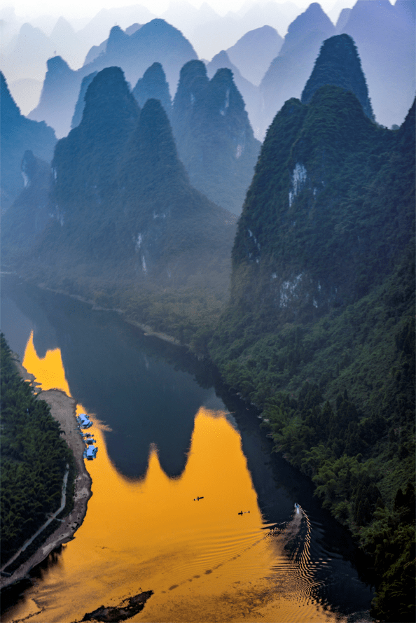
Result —
[{"label": "dark green forest on the left bank, inside the sandy curve", "polygon": [[[74,461],[44,400],[16,370],[1,334],[1,564],[60,507]],[[68,484],[71,494],[71,484]]]}]

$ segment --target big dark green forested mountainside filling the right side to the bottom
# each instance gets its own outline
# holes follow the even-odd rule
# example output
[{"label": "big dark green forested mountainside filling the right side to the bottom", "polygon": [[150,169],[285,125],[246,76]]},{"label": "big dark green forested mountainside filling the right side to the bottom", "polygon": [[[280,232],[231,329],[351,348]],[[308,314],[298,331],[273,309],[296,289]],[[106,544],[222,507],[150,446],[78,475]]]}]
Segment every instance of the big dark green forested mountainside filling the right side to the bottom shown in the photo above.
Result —
[{"label": "big dark green forested mountainside filling the right side to the bottom", "polygon": [[414,105],[391,131],[338,87],[286,102],[208,344],[373,557],[373,615],[395,622],[415,618],[414,172]]}]

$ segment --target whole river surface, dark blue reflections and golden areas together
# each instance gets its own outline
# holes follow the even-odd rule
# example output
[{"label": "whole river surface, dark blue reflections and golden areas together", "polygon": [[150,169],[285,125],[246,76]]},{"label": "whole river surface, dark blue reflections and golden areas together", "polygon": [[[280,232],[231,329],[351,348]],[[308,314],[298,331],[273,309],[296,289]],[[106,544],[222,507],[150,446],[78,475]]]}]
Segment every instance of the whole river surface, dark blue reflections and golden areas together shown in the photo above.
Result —
[{"label": "whole river surface, dark blue reflections and golden areas together", "polygon": [[1,330],[42,388],[90,414],[99,447],[81,528],[6,604],[4,623],[80,621],[148,589],[129,620],[372,620],[347,533],[270,456],[256,414],[183,349],[12,276]]}]

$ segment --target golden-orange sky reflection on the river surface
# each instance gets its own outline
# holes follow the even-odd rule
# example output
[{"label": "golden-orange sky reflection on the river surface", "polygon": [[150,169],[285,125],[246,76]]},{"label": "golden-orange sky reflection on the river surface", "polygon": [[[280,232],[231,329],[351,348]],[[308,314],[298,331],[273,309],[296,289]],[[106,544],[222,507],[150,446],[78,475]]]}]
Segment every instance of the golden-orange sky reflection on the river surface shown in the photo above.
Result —
[{"label": "golden-orange sky reflection on the river surface", "polygon": [[[40,359],[31,335],[23,365],[41,388],[69,394],[59,349]],[[28,610],[31,623],[69,623],[148,589],[154,595],[130,621],[342,620],[313,601],[307,561],[300,569],[283,552],[284,540],[262,529],[240,434],[226,412],[201,407],[195,414],[188,461],[177,479],[160,468],[156,447],[149,448],[143,479],[121,475],[106,452],[106,426],[90,416],[99,450],[86,461],[92,498],[85,520],[4,623]]]}]

